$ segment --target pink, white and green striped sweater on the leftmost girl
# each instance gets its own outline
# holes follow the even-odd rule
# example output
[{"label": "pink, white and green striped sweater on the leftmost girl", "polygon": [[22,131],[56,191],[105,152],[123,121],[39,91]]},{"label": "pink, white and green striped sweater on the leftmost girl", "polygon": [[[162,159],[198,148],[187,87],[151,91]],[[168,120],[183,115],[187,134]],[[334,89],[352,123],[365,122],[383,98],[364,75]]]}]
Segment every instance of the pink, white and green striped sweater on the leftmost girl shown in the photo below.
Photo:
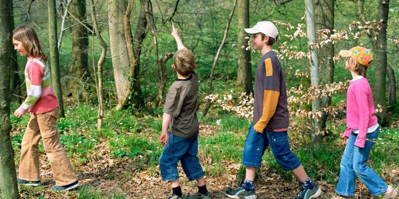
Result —
[{"label": "pink, white and green striped sweater on the leftmost girl", "polygon": [[58,107],[57,98],[51,85],[49,67],[38,58],[28,58],[25,66],[27,98],[17,109],[21,114],[27,110],[44,113]]}]

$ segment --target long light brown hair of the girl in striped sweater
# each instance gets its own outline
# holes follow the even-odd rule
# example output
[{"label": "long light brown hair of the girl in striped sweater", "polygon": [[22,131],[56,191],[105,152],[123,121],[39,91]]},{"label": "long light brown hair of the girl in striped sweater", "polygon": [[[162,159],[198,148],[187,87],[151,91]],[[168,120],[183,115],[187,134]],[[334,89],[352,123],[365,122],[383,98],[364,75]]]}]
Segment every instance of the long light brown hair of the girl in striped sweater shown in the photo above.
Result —
[{"label": "long light brown hair of the girl in striped sweater", "polygon": [[22,25],[15,28],[12,31],[12,38],[22,43],[28,57],[40,58],[42,61],[47,62],[47,55],[41,49],[39,38],[32,27]]}]

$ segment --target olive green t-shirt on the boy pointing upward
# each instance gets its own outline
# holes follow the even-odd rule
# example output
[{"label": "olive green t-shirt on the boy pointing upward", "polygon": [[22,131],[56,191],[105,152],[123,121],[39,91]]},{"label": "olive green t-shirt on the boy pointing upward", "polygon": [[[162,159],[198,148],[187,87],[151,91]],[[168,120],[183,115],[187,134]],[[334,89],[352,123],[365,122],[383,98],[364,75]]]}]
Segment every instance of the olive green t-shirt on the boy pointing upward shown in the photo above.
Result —
[{"label": "olive green t-shirt on the boy pointing upward", "polygon": [[188,79],[178,79],[169,87],[164,112],[172,115],[170,133],[188,138],[199,131],[197,96],[198,78],[194,72]]}]

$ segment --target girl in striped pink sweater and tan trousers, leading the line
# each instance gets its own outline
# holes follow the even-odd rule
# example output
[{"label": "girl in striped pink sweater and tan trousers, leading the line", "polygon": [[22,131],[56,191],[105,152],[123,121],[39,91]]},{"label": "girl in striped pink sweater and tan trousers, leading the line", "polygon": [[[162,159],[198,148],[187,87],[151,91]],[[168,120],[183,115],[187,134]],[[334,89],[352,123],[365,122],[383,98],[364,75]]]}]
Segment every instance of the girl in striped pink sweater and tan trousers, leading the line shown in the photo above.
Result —
[{"label": "girl in striped pink sweater and tan trousers, leading the line", "polygon": [[18,184],[38,186],[40,184],[39,150],[40,139],[51,164],[56,185],[52,191],[66,191],[79,186],[72,165],[62,147],[57,129],[58,101],[51,85],[47,56],[41,49],[39,39],[32,27],[23,25],[12,32],[14,49],[27,56],[25,82],[27,98],[15,110],[21,117],[29,111],[30,119],[21,143]]}]

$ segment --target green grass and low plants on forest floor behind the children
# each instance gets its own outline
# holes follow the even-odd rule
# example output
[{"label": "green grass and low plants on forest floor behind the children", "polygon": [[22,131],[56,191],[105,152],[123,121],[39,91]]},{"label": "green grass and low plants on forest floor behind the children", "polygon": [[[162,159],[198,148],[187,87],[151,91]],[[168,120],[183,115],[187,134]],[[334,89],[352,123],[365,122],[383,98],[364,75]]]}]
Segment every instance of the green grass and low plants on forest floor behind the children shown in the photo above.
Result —
[{"label": "green grass and low plants on forest floor behind the children", "polygon": [[[160,116],[160,114],[136,116],[131,110],[106,110],[103,129],[98,131],[94,106],[82,104],[66,107],[66,110],[66,117],[58,120],[60,139],[68,156],[76,160],[73,164],[77,170],[81,165],[79,163],[87,162],[90,154],[96,153],[95,146],[105,142],[109,146],[111,155],[115,158],[133,159],[133,163],[126,168],[123,177],[125,179],[121,179],[121,181],[128,181],[134,177],[136,174],[133,171],[149,171],[151,176],[158,175],[157,166],[163,150],[158,141],[162,130],[162,117],[156,116]],[[199,114],[199,118],[201,125],[213,126],[211,130],[201,131],[198,139],[198,157],[207,178],[220,177],[232,172],[232,169],[227,166],[234,164],[237,170],[234,174],[237,175],[237,179],[242,179],[245,175],[245,167],[242,166],[241,161],[244,141],[250,125],[248,120],[220,110],[211,112],[206,117]],[[13,130],[24,129],[28,119],[28,115],[19,119],[11,116]],[[344,130],[344,126],[332,129],[331,134],[324,138],[324,143],[318,150],[310,148],[309,140],[304,140],[299,135],[289,132],[291,148],[312,179],[335,184],[345,148],[340,144],[340,135]],[[211,134],[207,134],[206,131],[211,131]],[[11,136],[16,164],[19,162],[18,154],[23,133],[22,131]],[[399,164],[397,156],[399,129],[382,128],[379,138],[373,147],[369,163],[381,175]],[[39,150],[44,152],[42,144],[40,144]],[[285,182],[296,181],[292,172],[282,171],[268,148],[262,157],[262,169],[257,172],[257,179],[261,180],[270,173],[280,175]],[[116,176],[109,173],[105,178],[113,180]],[[38,187],[24,191],[24,196],[25,198],[38,198],[41,197],[41,193],[43,193],[43,189]],[[72,194],[78,196],[79,199],[126,198],[121,193],[104,195],[100,190],[87,186],[82,186]]]}]

